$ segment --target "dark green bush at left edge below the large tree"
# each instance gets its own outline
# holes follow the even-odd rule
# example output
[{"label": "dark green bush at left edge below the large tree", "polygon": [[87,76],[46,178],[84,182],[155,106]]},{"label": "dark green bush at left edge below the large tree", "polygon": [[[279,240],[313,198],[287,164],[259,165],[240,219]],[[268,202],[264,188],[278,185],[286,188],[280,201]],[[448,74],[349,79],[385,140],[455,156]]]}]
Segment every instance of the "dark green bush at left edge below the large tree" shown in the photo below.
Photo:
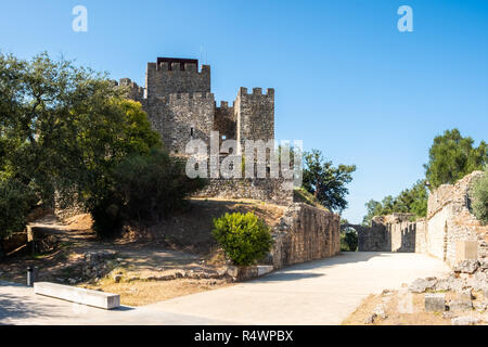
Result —
[{"label": "dark green bush at left edge below the large tree", "polygon": [[34,197],[31,190],[21,182],[0,181],[0,240],[25,229]]}]

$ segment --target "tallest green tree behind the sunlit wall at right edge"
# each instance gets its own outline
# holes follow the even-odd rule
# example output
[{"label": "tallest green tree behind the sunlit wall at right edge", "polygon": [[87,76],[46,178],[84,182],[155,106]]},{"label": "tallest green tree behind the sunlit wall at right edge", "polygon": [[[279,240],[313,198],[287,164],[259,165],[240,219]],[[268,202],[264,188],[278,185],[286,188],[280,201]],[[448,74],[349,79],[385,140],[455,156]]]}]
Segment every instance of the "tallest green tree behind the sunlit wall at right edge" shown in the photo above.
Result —
[{"label": "tallest green tree behind the sunlit wall at right edge", "polygon": [[458,129],[437,136],[428,151],[428,163],[424,165],[429,184],[438,188],[454,183],[474,170],[483,170],[488,164],[488,145],[485,141],[477,147],[473,144],[473,139],[463,138]]}]

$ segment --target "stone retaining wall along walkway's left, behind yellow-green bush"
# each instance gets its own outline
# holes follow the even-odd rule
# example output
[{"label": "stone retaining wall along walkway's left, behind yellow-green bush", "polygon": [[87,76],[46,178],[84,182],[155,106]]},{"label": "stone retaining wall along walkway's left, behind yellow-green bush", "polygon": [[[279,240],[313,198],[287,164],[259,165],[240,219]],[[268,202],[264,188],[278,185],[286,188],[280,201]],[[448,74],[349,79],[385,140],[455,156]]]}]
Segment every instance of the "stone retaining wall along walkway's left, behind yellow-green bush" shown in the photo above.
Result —
[{"label": "stone retaining wall along walkway's left, behind yellow-green bush", "polygon": [[304,203],[288,206],[273,231],[270,262],[275,269],[341,252],[341,217]]}]

